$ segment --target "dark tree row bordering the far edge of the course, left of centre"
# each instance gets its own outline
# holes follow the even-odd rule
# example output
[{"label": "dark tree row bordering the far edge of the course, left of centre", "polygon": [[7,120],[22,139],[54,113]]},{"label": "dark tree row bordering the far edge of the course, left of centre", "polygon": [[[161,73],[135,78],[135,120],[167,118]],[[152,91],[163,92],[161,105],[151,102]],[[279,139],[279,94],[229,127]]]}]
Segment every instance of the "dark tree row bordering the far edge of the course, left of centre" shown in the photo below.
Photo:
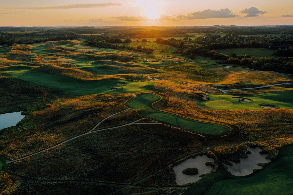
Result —
[{"label": "dark tree row bordering the far edge of the course, left of centre", "polygon": [[113,44],[110,43],[109,41],[97,41],[97,40],[87,40],[85,41],[86,45],[88,46],[94,46],[94,47],[102,47],[102,48],[111,48],[111,49],[129,49],[129,50],[133,50],[134,52],[144,52],[147,54],[151,54],[153,53],[154,49],[150,48],[150,47],[142,47],[142,46],[137,46],[137,47],[133,47],[133,46],[126,46],[124,44]]}]

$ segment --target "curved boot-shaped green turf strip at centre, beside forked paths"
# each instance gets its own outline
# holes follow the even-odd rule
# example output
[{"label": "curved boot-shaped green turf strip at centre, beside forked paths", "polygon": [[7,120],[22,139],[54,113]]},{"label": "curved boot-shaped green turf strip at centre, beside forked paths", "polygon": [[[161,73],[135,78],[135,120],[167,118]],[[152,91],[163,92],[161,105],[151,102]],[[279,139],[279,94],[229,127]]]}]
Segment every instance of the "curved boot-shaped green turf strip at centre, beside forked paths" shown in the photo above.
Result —
[{"label": "curved boot-shaped green turf strip at centre, beside forked paths", "polygon": [[230,132],[230,128],[224,125],[197,121],[154,109],[152,103],[160,99],[158,95],[142,93],[126,102],[125,105],[137,110],[143,117],[154,119],[171,126],[180,127],[204,136],[224,136]]}]

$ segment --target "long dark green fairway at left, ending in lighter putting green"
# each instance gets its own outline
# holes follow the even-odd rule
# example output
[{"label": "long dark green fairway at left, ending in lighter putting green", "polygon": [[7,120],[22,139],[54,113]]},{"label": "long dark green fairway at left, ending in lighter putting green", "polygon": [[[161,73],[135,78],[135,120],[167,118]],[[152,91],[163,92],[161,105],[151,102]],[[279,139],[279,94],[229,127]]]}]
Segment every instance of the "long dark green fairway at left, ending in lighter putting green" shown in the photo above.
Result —
[{"label": "long dark green fairway at left, ending in lighter putting green", "polygon": [[[23,71],[9,71],[1,74],[15,81],[38,85],[47,89],[74,95],[89,95],[97,93],[132,93],[139,90],[148,90],[155,84],[155,82],[139,83],[130,80],[121,80],[118,78],[103,80],[82,80],[60,74],[36,71],[33,69]],[[128,90],[123,90],[123,86],[116,85],[118,82],[124,82],[127,84],[134,83],[134,85],[139,85],[139,87],[132,87],[133,90],[131,87],[128,88]],[[114,87],[117,89],[111,91],[111,88]]]}]

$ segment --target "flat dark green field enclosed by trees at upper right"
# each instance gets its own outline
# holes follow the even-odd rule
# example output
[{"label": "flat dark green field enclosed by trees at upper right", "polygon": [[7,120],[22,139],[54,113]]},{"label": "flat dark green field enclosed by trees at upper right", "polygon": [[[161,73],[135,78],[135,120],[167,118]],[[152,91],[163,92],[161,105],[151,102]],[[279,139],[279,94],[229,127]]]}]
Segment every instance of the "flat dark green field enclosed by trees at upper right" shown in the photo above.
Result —
[{"label": "flat dark green field enclosed by trees at upper right", "polygon": [[236,53],[237,55],[245,55],[249,54],[254,56],[256,59],[260,57],[268,57],[268,58],[277,58],[277,56],[273,55],[276,50],[265,49],[265,48],[234,48],[234,49],[217,49],[218,53],[231,55]]}]

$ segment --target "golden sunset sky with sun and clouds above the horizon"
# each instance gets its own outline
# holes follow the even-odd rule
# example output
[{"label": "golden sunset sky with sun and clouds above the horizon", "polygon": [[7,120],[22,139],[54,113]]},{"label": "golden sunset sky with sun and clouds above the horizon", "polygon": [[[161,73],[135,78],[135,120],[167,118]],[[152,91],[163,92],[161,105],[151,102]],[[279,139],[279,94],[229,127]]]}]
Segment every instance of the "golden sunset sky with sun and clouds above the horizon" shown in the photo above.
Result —
[{"label": "golden sunset sky with sun and clouds above the horizon", "polygon": [[0,26],[293,25],[293,0],[0,1]]}]

